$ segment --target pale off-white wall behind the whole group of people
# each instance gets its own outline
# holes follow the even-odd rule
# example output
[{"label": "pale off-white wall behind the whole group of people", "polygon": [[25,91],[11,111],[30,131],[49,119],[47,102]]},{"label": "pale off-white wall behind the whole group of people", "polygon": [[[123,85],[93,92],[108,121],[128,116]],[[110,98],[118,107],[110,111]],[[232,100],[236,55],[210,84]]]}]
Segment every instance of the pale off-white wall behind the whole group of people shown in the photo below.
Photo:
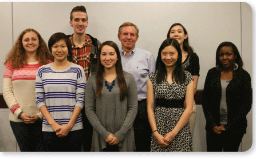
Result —
[{"label": "pale off-white wall behind the whole group of people", "polygon": [[[150,51],[155,59],[172,23],[182,23],[200,60],[198,89],[203,89],[207,71],[215,66],[216,49],[223,41],[231,41],[238,47],[245,69],[253,79],[253,11],[244,2],[0,2],[0,76],[3,76],[3,62],[13,45],[13,38],[15,42],[19,33],[29,27],[36,29],[46,43],[53,33],[72,34],[69,15],[78,5],[84,5],[88,13],[86,33],[100,42],[112,40],[120,47],[117,38],[119,26],[123,22],[133,22],[140,30],[137,47]],[[0,84],[2,93],[2,78]],[[205,118],[202,106],[197,107],[194,149],[202,152],[206,151]],[[5,111],[0,112],[1,122],[5,116]],[[249,126],[242,141],[242,151],[250,149],[252,144],[252,116],[251,110],[247,116]],[[1,124],[8,125],[8,122],[6,117],[6,123]],[[0,130],[3,131],[0,138],[12,134],[10,129],[0,127]]]}]

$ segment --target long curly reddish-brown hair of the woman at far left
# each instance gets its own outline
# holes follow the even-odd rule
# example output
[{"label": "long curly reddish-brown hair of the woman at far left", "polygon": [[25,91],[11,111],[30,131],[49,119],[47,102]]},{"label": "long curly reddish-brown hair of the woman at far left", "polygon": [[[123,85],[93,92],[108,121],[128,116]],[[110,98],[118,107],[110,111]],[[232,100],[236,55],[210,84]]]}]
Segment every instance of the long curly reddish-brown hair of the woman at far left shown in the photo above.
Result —
[{"label": "long curly reddish-brown hair of the woman at far left", "polygon": [[4,65],[6,65],[9,61],[11,61],[11,66],[14,69],[17,69],[27,64],[26,51],[22,45],[22,38],[26,33],[29,33],[31,31],[37,34],[37,37],[39,40],[39,46],[37,48],[37,59],[39,63],[41,63],[42,65],[46,65],[49,63],[48,62],[49,59],[53,61],[52,54],[49,53],[49,49],[44,39],[42,39],[41,35],[34,29],[26,29],[26,30],[23,30],[21,34],[19,34],[13,48],[10,50],[9,54],[7,54],[6,56]]}]

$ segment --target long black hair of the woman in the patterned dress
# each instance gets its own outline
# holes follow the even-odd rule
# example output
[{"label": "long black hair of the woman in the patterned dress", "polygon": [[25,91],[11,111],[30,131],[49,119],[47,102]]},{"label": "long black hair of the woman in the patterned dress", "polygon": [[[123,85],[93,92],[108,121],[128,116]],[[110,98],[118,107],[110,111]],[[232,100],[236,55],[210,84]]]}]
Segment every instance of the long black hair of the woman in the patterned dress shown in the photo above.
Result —
[{"label": "long black hair of the woman in the patterned dress", "polygon": [[160,82],[162,82],[167,76],[166,65],[164,65],[164,62],[161,58],[161,51],[164,49],[164,47],[170,45],[174,46],[175,49],[178,51],[178,59],[175,63],[174,71],[172,72],[172,81],[176,80],[179,84],[183,84],[185,82],[184,71],[182,69],[182,50],[180,49],[179,42],[176,41],[176,39],[167,38],[160,46],[156,58],[156,84],[160,84]]}]

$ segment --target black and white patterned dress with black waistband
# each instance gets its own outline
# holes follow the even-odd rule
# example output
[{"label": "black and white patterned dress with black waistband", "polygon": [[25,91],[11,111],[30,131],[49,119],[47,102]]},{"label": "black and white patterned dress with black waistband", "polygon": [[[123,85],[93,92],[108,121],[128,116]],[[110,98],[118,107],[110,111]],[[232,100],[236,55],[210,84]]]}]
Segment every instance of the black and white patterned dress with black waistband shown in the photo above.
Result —
[{"label": "black and white patterned dress with black waistband", "polygon": [[[155,119],[158,132],[165,136],[171,132],[178,123],[180,116],[184,112],[184,98],[186,95],[187,85],[194,80],[188,71],[185,72],[185,82],[180,85],[174,81],[170,85],[167,80],[156,84],[156,71],[149,74],[149,80],[153,84],[153,91],[156,97]],[[161,102],[164,101],[164,102]],[[179,103],[180,108],[173,108],[176,103]],[[168,107],[166,105],[172,105]],[[151,136],[151,152],[192,152],[192,136],[190,125],[187,124],[179,131],[174,140],[166,148],[162,148],[156,141],[156,138]]]}]

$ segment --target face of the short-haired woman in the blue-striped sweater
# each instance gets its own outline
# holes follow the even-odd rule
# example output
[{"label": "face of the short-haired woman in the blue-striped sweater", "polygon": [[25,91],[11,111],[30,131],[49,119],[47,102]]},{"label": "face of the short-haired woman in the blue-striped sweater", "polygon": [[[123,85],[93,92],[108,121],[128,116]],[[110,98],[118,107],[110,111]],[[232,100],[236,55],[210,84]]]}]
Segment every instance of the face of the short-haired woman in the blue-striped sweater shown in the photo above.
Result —
[{"label": "face of the short-haired woman in the blue-striped sweater", "polygon": [[62,62],[62,61],[68,61],[68,47],[66,46],[66,42],[64,39],[61,39],[60,41],[57,41],[52,46],[52,54],[54,57],[54,61]]}]

